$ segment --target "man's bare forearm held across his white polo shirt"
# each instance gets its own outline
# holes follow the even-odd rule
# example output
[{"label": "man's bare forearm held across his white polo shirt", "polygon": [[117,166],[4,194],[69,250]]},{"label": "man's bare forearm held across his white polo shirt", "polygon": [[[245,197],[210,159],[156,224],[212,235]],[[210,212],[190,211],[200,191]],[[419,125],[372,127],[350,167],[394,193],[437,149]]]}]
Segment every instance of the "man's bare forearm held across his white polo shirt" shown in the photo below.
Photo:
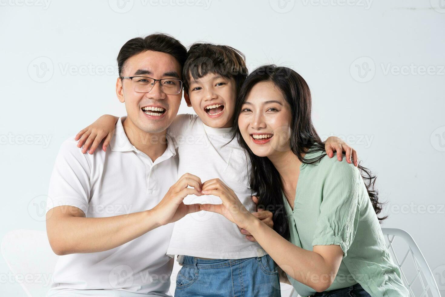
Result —
[{"label": "man's bare forearm held across his white polo shirt", "polygon": [[105,218],[49,215],[48,237],[58,255],[106,251],[159,227],[152,210]]}]

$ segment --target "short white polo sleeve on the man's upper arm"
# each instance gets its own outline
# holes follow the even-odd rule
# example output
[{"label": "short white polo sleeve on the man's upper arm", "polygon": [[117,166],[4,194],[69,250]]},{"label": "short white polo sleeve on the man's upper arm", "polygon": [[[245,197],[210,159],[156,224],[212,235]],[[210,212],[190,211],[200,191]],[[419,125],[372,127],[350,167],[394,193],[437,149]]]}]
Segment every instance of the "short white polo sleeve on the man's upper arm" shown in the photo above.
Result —
[{"label": "short white polo sleeve on the man's upper arm", "polygon": [[54,164],[49,181],[46,212],[51,208],[70,205],[88,211],[91,169],[74,139],[65,140]]}]

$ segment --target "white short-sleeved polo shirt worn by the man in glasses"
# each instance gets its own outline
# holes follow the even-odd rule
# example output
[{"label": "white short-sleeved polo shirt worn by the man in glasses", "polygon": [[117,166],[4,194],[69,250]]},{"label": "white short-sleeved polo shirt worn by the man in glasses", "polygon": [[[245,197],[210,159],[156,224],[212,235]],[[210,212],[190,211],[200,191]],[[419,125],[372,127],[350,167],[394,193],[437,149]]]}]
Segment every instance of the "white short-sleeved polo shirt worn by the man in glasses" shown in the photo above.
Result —
[{"label": "white short-sleeved polo shirt worn by the man in glasses", "polygon": [[[49,184],[47,212],[71,205],[86,217],[109,217],[155,207],[178,180],[171,139],[154,162],[134,147],[122,121],[110,148],[82,154],[77,141],[63,142]],[[48,296],[169,296],[173,259],[166,255],[173,224],[105,252],[77,253],[57,260]]]}]

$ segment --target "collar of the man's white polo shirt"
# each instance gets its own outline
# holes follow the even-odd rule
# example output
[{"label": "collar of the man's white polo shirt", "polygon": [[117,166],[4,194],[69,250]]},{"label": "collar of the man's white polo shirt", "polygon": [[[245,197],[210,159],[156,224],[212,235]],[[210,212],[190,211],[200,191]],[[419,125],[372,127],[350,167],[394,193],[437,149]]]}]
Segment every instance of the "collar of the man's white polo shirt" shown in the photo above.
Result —
[{"label": "collar of the man's white polo shirt", "polygon": [[[127,134],[125,134],[124,126],[122,126],[122,122],[125,121],[125,118],[126,116],[120,117],[117,120],[116,126],[114,126],[114,134],[110,142],[110,148],[112,151],[138,151],[138,149],[129,141]],[[173,141],[168,134],[166,134],[166,140],[167,149],[164,154],[162,154],[165,159],[176,156]]]}]

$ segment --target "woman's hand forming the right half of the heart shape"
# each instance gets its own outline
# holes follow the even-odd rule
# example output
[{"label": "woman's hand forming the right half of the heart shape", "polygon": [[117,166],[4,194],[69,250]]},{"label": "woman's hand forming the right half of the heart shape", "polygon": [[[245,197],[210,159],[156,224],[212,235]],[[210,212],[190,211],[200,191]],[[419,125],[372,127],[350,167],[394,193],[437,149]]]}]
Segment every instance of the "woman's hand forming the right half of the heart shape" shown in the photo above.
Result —
[{"label": "woman's hand forming the right half of the heart shape", "polygon": [[241,229],[248,230],[252,222],[258,220],[252,215],[243,203],[239,201],[235,192],[227,187],[220,179],[210,179],[202,184],[202,194],[215,195],[221,198],[222,204],[201,204],[200,209],[207,212],[219,213],[238,225]]}]

